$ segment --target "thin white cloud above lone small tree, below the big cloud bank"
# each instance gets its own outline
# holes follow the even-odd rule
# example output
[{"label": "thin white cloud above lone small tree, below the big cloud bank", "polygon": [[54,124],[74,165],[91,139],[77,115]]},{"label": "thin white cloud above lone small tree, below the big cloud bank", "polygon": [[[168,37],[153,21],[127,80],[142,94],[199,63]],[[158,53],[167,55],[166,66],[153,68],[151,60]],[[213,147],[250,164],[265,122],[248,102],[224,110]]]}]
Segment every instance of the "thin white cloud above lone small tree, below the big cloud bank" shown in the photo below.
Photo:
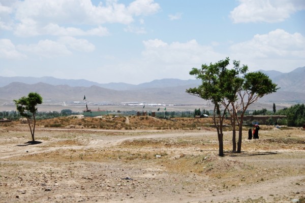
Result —
[{"label": "thin white cloud above lone small tree, below the big cloud bank", "polygon": [[24,52],[32,53],[45,58],[68,56],[72,54],[65,45],[49,39],[40,40],[38,44],[18,45],[17,48]]}]

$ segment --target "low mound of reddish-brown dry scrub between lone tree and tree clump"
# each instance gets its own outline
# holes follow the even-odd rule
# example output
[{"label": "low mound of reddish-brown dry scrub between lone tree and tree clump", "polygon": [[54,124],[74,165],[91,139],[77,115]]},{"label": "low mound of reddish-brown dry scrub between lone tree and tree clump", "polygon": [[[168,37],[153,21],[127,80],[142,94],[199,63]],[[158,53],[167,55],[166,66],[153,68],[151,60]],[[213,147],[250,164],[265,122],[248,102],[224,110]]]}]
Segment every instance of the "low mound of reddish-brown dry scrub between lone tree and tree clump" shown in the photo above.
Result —
[{"label": "low mound of reddish-brown dry scrub between lone tree and tree clump", "polygon": [[47,128],[91,128],[106,130],[200,130],[212,124],[211,118],[172,118],[167,120],[151,116],[101,116],[95,118],[82,117],[81,119],[78,116],[68,116],[39,120],[37,122],[37,125]]}]

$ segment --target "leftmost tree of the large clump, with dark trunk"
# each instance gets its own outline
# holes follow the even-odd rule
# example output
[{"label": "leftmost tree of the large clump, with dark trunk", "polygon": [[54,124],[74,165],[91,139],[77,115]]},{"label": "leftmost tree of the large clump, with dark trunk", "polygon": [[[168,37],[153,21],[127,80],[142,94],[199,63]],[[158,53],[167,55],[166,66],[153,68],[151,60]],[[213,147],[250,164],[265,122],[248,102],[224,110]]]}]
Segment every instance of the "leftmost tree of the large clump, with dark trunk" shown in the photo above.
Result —
[{"label": "leftmost tree of the large clump, with dark trunk", "polygon": [[[191,95],[198,96],[205,100],[210,100],[214,104],[213,121],[217,129],[219,142],[219,155],[223,156],[223,121],[226,111],[231,101],[236,99],[238,71],[235,69],[227,69],[229,58],[221,60],[217,63],[203,64],[201,69],[193,68],[191,75],[195,75],[196,79],[201,79],[202,84],[197,88],[186,90]],[[223,107],[223,109],[222,109]]]}]

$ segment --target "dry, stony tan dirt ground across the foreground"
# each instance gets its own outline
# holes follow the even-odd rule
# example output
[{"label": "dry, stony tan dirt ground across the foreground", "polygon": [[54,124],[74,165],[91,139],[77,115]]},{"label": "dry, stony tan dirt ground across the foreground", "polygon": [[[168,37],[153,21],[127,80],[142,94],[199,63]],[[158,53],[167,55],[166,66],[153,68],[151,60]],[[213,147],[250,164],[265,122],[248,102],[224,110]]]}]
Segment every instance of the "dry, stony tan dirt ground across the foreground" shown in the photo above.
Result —
[{"label": "dry, stony tan dirt ground across the foreground", "polygon": [[0,127],[0,202],[305,202],[305,131]]}]

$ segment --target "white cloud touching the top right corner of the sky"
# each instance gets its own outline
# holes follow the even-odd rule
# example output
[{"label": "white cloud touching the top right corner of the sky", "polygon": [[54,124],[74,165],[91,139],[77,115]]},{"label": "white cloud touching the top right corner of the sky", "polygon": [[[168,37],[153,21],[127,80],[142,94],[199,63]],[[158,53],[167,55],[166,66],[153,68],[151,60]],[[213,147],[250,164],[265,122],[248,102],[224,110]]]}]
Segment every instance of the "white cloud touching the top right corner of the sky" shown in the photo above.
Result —
[{"label": "white cloud touching the top right corner of the sky", "polygon": [[239,0],[239,6],[230,12],[234,23],[281,22],[291,14],[305,9],[303,0]]}]

